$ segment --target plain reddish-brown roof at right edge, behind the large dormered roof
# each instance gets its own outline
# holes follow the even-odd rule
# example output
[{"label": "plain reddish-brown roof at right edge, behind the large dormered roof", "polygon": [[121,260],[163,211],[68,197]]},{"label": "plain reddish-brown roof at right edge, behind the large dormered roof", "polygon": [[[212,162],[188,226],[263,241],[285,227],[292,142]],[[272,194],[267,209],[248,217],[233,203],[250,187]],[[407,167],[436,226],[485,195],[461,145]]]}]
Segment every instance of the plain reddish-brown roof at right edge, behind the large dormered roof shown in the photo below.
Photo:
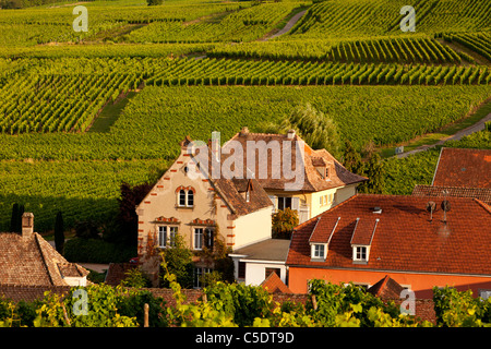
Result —
[{"label": "plain reddish-brown roof at right edge, behind the large dormered roof", "polygon": [[442,148],[432,185],[491,189],[491,149]]}]

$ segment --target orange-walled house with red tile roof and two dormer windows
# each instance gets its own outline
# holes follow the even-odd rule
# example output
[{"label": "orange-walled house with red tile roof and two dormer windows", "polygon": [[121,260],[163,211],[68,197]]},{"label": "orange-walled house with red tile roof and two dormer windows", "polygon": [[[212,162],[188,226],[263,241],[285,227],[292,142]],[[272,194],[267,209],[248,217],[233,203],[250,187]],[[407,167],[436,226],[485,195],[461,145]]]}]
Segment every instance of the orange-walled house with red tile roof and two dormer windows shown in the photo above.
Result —
[{"label": "orange-walled house with red tile roof and two dormer windows", "polygon": [[434,286],[487,297],[490,261],[491,206],[482,201],[357,194],[299,225],[286,265],[296,293],[314,278],[370,287],[388,276],[424,299]]}]

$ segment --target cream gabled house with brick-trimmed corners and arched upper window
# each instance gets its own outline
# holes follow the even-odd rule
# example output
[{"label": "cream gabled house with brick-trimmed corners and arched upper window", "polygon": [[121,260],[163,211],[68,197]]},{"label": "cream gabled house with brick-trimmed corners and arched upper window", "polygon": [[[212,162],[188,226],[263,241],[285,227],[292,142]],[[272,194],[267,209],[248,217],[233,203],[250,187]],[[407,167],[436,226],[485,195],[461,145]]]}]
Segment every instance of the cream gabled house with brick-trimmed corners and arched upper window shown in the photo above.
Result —
[{"label": "cream gabled house with brick-trimmed corners and arched upper window", "polygon": [[[195,253],[213,249],[215,239],[235,250],[271,238],[272,203],[258,181],[215,178],[214,166],[223,161],[208,147],[195,146],[189,137],[180,146],[179,157],[136,206],[139,263],[154,286],[158,284],[158,251],[171,248],[176,234]],[[200,166],[200,154],[209,159],[208,166]],[[199,276],[213,265],[195,260],[194,286],[199,287]]]}]

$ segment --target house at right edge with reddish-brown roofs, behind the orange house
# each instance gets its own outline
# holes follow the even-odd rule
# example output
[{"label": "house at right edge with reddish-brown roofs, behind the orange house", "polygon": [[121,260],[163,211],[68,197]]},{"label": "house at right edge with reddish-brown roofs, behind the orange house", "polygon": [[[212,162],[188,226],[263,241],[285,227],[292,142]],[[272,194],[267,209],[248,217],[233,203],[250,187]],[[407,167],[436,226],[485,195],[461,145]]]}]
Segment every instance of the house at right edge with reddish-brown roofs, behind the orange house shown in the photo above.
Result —
[{"label": "house at right edge with reddish-brown roofs, behind the orange house", "polygon": [[442,148],[431,185],[412,195],[476,197],[491,204],[491,151]]}]

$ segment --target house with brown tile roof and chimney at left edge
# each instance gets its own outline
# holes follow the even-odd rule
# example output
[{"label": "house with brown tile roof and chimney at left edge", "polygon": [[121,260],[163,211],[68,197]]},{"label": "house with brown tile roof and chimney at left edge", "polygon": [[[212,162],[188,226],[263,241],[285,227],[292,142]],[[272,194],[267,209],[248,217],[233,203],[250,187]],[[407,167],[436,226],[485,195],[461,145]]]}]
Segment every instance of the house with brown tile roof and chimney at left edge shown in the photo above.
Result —
[{"label": "house with brown tile roof and chimney at left edge", "polygon": [[34,215],[22,216],[22,233],[0,233],[0,284],[16,287],[86,286],[88,270],[68,262],[40,234]]}]

